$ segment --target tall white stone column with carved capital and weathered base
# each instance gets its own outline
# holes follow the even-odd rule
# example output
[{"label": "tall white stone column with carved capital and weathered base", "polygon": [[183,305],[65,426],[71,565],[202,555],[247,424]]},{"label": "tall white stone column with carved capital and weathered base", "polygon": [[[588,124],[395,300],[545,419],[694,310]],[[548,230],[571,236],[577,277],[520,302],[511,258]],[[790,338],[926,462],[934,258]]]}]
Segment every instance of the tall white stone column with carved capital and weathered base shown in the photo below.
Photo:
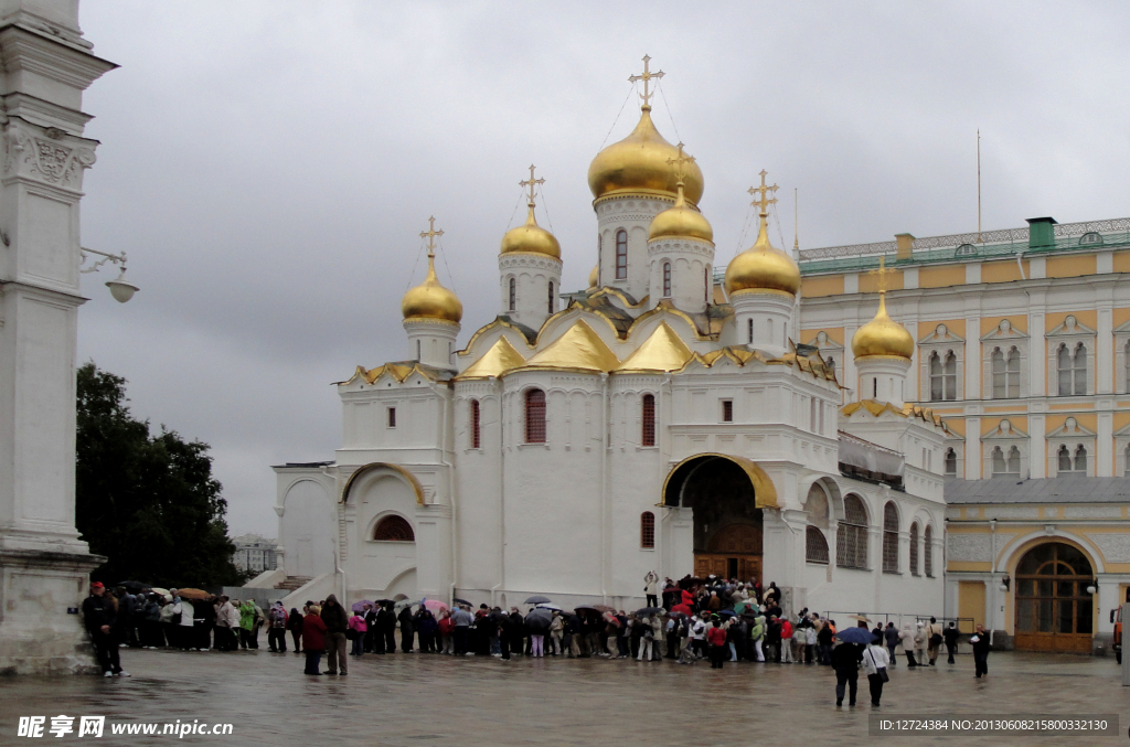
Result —
[{"label": "tall white stone column with carved capital and weathered base", "polygon": [[0,3],[0,670],[75,672],[77,615],[104,558],[75,529],[75,350],[82,176],[97,141],[82,92],[112,70],[78,2]]}]

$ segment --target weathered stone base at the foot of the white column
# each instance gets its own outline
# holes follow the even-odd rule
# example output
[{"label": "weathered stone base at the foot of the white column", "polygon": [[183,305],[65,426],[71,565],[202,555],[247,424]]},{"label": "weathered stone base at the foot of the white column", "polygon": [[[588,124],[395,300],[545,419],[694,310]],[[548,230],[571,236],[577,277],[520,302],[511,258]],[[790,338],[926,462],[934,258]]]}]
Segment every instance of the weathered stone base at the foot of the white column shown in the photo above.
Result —
[{"label": "weathered stone base at the foot of the white column", "polygon": [[81,605],[90,571],[105,562],[90,554],[0,550],[0,675],[98,671]]}]

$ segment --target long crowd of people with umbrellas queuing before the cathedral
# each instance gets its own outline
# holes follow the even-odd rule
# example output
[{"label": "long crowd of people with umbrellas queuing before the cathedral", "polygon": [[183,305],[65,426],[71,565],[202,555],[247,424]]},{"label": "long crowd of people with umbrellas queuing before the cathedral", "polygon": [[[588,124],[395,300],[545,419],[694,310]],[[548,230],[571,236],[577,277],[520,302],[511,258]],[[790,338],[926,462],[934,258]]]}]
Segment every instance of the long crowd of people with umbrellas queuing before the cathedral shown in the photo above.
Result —
[{"label": "long crowd of people with umbrellas queuing before the cathedral", "polygon": [[[861,616],[857,628],[841,631],[836,620],[802,609],[786,615],[775,583],[686,577],[662,585],[654,574],[645,579],[649,607],[629,613],[600,605],[560,609],[548,600],[523,614],[457,600],[454,608],[437,601],[403,603],[393,600],[358,602],[347,610],[330,594],[286,610],[275,602],[264,614],[253,600],[226,596],[184,599],[168,594],[130,594],[122,587],[113,596],[92,584],[84,606],[87,628],[98,650],[105,676],[128,676],[118,661],[119,646],[171,646],[186,651],[258,649],[260,628],[268,631],[270,651],[285,653],[289,634],[295,653],[305,653],[305,674],[321,676],[322,657],[329,675],[348,675],[348,657],[421,652],[446,655],[514,655],[675,660],[694,665],[709,660],[721,669],[725,662],[806,663],[836,672],[836,704],[845,695],[855,704],[858,672],[867,675],[872,705],[880,704],[887,668],[901,651],[909,668],[936,666],[941,646],[954,663],[959,633],[931,617],[916,625],[894,623],[869,627]],[[92,601],[94,600],[94,601]],[[87,609],[89,607],[89,609]],[[971,639],[976,676],[988,674],[988,636],[980,629]]]}]

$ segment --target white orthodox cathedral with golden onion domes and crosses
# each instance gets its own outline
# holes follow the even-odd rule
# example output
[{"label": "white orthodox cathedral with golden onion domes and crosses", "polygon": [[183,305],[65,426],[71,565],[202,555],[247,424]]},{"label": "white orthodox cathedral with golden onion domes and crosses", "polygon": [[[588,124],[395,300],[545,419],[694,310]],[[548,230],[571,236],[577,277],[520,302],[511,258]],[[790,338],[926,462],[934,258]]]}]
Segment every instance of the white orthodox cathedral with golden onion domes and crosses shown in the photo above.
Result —
[{"label": "white orthodox cathedral with golden onion domes and crosses", "polygon": [[905,401],[915,341],[887,314],[887,270],[852,365],[800,344],[800,269],[770,242],[762,172],[757,240],[715,278],[702,171],[652,122],[660,75],[645,58],[638,123],[589,167],[586,290],[562,293],[532,167],[499,313],[462,349],[442,232],[421,234],[408,358],[338,384],[333,462],[275,468],[275,574],[296,598],[631,608],[655,571],[774,581],[793,611],[941,614],[948,433]]}]

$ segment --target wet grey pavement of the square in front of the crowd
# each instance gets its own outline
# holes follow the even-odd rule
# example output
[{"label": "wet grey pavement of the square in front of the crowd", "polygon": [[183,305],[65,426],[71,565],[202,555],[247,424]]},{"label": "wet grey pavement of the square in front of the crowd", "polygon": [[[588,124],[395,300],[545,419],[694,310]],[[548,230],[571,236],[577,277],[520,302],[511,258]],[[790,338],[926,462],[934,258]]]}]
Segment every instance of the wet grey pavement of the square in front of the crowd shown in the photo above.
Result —
[{"label": "wet grey pavement of the square in front of the crowd", "polygon": [[[870,737],[867,680],[859,706],[835,707],[835,678],[806,665],[636,662],[440,654],[350,658],[348,677],[306,677],[303,657],[259,651],[122,651],[130,678],[0,680],[0,744],[18,738],[19,716],[105,715],[96,744],[167,744],[173,736],[113,736],[122,722],[231,722],[232,736],[185,736],[183,744],[238,745],[1081,745],[1127,744],[1130,687],[1113,659],[1057,654],[990,655],[892,670],[887,716],[980,713],[1079,718],[1118,714],[1116,737]],[[945,659],[939,660],[944,662]],[[901,662],[902,663],[902,662]],[[324,670],[324,661],[323,661]],[[51,744],[85,744],[75,733]]]}]

